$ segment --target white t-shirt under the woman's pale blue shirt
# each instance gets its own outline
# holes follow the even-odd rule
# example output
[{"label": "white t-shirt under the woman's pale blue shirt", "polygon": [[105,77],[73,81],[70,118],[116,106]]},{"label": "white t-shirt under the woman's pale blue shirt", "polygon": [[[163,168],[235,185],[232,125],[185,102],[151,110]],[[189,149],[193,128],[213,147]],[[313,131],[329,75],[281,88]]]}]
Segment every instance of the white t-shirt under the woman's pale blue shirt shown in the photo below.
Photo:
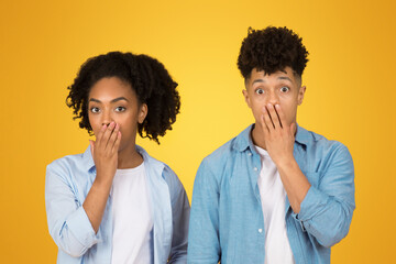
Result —
[{"label": "white t-shirt under the woman's pale blue shirt", "polygon": [[111,263],[154,263],[153,217],[144,163],[135,168],[117,169],[111,197]]}]

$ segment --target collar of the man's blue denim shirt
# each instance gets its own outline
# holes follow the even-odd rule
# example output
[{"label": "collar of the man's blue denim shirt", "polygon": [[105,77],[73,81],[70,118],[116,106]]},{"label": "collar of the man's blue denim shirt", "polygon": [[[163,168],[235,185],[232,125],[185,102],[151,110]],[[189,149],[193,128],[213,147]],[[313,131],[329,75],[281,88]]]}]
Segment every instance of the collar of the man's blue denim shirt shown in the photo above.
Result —
[{"label": "collar of the man's blue denim shirt", "polygon": [[[252,134],[251,131],[253,128],[254,128],[254,123],[249,125],[237,136],[234,147],[240,152],[245,151],[248,147],[250,147],[251,151],[255,150],[251,135]],[[309,143],[309,132],[306,129],[299,127],[298,124],[297,124],[296,142],[302,145],[307,145]]]}]

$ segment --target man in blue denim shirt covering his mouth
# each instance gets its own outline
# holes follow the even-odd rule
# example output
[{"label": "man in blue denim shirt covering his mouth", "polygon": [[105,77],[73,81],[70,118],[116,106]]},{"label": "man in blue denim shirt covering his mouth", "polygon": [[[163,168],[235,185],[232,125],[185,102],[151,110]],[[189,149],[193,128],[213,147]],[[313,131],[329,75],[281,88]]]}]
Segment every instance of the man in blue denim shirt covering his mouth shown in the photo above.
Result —
[{"label": "man in blue denim shirt covering his mouth", "polygon": [[250,30],[238,67],[255,123],[195,179],[188,263],[330,263],[355,208],[348,148],[296,124],[308,62],[286,28]]}]

